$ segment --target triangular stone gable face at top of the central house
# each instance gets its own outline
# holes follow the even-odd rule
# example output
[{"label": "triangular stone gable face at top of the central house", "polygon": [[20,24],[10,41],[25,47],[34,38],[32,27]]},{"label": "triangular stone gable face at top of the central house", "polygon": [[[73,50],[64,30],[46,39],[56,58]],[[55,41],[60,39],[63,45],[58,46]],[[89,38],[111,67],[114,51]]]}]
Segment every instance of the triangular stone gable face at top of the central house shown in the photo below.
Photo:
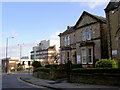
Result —
[{"label": "triangular stone gable face at top of the central house", "polygon": [[76,28],[93,23],[93,22],[97,22],[97,20],[95,18],[89,16],[88,14],[84,14],[78,20],[78,22],[76,24]]}]

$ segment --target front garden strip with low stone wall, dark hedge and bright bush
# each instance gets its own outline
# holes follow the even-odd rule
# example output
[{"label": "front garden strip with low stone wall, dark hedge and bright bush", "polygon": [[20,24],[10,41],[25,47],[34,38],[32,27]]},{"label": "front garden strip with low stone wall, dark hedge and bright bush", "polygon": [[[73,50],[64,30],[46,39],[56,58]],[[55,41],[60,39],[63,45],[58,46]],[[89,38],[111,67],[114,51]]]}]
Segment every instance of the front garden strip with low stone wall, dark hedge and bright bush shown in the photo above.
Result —
[{"label": "front garden strip with low stone wall, dark hedge and bright bush", "polygon": [[33,76],[41,79],[56,80],[68,78],[71,83],[87,83],[100,85],[120,86],[120,69],[115,60],[100,59],[95,68],[82,68],[81,64],[45,65],[42,67],[38,61],[34,64]]}]

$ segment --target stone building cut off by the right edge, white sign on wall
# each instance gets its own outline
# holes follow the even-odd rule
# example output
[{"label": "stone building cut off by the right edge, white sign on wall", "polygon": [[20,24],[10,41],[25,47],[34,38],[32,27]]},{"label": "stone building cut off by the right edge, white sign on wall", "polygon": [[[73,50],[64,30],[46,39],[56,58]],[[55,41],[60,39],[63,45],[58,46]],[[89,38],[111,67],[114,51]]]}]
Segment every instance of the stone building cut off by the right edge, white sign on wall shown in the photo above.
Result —
[{"label": "stone building cut off by the right edge, white sign on wall", "polygon": [[120,0],[109,2],[105,8],[109,57],[120,66]]}]

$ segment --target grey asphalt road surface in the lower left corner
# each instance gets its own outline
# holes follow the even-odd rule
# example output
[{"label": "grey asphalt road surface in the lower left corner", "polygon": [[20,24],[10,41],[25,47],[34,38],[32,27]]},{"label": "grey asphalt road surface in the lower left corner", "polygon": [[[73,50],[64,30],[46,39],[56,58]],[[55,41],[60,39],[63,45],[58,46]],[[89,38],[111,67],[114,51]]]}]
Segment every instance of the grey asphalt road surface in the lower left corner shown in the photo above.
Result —
[{"label": "grey asphalt road surface in the lower left corner", "polygon": [[22,75],[26,75],[28,73],[19,72],[13,74],[3,74],[2,75],[2,88],[37,88],[33,87],[27,83],[22,82],[18,78]]}]

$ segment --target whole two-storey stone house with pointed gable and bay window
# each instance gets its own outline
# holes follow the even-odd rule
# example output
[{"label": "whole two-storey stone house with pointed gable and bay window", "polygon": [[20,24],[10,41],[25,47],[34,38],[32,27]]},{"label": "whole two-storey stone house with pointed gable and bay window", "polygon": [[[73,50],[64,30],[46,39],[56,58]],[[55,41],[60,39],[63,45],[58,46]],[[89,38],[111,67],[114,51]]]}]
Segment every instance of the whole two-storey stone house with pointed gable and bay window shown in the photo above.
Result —
[{"label": "whole two-storey stone house with pointed gable and bay window", "polygon": [[75,26],[60,33],[61,61],[94,67],[97,60],[108,58],[106,19],[82,13]]}]

